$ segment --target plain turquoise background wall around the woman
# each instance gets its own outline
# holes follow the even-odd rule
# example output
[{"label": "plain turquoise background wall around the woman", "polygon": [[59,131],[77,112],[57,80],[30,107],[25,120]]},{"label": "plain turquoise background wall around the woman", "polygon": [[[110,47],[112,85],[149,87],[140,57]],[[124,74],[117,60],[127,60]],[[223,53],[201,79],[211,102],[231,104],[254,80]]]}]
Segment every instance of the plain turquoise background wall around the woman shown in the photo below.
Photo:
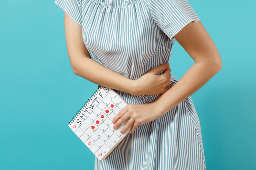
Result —
[{"label": "plain turquoise background wall around the woman", "polygon": [[[256,3],[189,3],[223,64],[191,95],[206,167],[255,169]],[[64,11],[54,0],[1,1],[0,18],[1,169],[93,169],[93,153],[68,122],[97,84],[72,72]],[[177,79],[194,64],[177,41],[169,62]]]}]

